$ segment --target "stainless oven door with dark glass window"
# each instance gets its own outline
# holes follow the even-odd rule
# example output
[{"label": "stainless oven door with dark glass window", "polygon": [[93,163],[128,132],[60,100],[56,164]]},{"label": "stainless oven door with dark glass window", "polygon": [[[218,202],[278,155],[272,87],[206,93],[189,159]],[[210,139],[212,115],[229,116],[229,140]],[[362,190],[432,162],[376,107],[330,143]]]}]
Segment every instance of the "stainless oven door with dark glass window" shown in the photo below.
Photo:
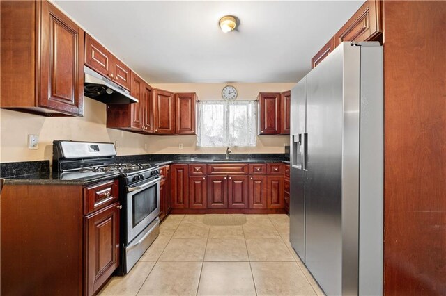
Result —
[{"label": "stainless oven door with dark glass window", "polygon": [[157,176],[155,179],[139,181],[127,187],[125,245],[160,214],[160,180],[160,176]]}]

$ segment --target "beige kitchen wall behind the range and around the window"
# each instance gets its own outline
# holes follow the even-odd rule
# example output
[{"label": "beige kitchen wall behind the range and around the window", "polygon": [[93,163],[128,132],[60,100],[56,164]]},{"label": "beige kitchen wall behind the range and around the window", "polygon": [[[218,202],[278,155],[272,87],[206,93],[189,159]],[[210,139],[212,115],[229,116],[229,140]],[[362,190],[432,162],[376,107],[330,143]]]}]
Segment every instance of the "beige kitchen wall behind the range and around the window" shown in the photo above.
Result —
[{"label": "beige kitchen wall behind the range and around the window", "polygon": [[[197,92],[200,100],[220,100],[226,83],[154,84],[173,92]],[[259,92],[282,92],[293,83],[231,83],[238,89],[238,99],[256,99]],[[84,100],[84,117],[43,117],[11,110],[0,110],[0,162],[39,161],[52,158],[53,140],[115,142],[118,155],[129,154],[206,154],[224,153],[225,148],[197,147],[197,136],[139,135],[107,129],[105,104]],[[38,149],[28,149],[29,134],[39,135]],[[256,147],[234,147],[233,153],[283,153],[289,136],[257,137]],[[178,145],[183,144],[183,149]]]}]

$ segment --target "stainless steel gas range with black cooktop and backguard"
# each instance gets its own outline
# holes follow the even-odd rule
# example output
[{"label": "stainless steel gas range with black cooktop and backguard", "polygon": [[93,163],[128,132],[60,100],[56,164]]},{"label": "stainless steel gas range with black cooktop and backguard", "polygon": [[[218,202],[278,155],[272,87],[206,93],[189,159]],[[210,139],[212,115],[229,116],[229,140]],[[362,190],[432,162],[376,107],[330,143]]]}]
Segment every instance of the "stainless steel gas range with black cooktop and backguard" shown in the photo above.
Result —
[{"label": "stainless steel gas range with black cooktop and backguard", "polygon": [[53,142],[53,172],[61,179],[106,176],[119,172],[121,262],[118,274],[127,274],[160,233],[160,171],[147,163],[117,163],[113,143]]}]

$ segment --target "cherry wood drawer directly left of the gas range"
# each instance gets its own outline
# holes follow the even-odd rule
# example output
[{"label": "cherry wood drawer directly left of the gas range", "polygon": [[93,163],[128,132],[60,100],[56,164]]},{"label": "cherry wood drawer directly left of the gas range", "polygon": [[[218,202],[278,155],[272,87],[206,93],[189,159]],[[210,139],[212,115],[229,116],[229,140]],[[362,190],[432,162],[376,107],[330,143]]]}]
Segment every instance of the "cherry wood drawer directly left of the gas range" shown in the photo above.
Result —
[{"label": "cherry wood drawer directly left of the gas range", "polygon": [[109,180],[84,188],[84,215],[118,202],[119,181]]}]

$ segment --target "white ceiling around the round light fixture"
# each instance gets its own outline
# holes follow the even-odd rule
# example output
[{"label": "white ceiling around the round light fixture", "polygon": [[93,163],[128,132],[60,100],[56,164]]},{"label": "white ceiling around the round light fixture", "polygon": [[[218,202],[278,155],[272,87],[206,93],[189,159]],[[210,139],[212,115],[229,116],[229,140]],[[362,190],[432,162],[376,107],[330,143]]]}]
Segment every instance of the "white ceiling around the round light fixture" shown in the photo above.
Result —
[{"label": "white ceiling around the round light fixture", "polygon": [[[148,83],[297,82],[361,1],[55,1]],[[223,33],[220,17],[240,19]]]}]

